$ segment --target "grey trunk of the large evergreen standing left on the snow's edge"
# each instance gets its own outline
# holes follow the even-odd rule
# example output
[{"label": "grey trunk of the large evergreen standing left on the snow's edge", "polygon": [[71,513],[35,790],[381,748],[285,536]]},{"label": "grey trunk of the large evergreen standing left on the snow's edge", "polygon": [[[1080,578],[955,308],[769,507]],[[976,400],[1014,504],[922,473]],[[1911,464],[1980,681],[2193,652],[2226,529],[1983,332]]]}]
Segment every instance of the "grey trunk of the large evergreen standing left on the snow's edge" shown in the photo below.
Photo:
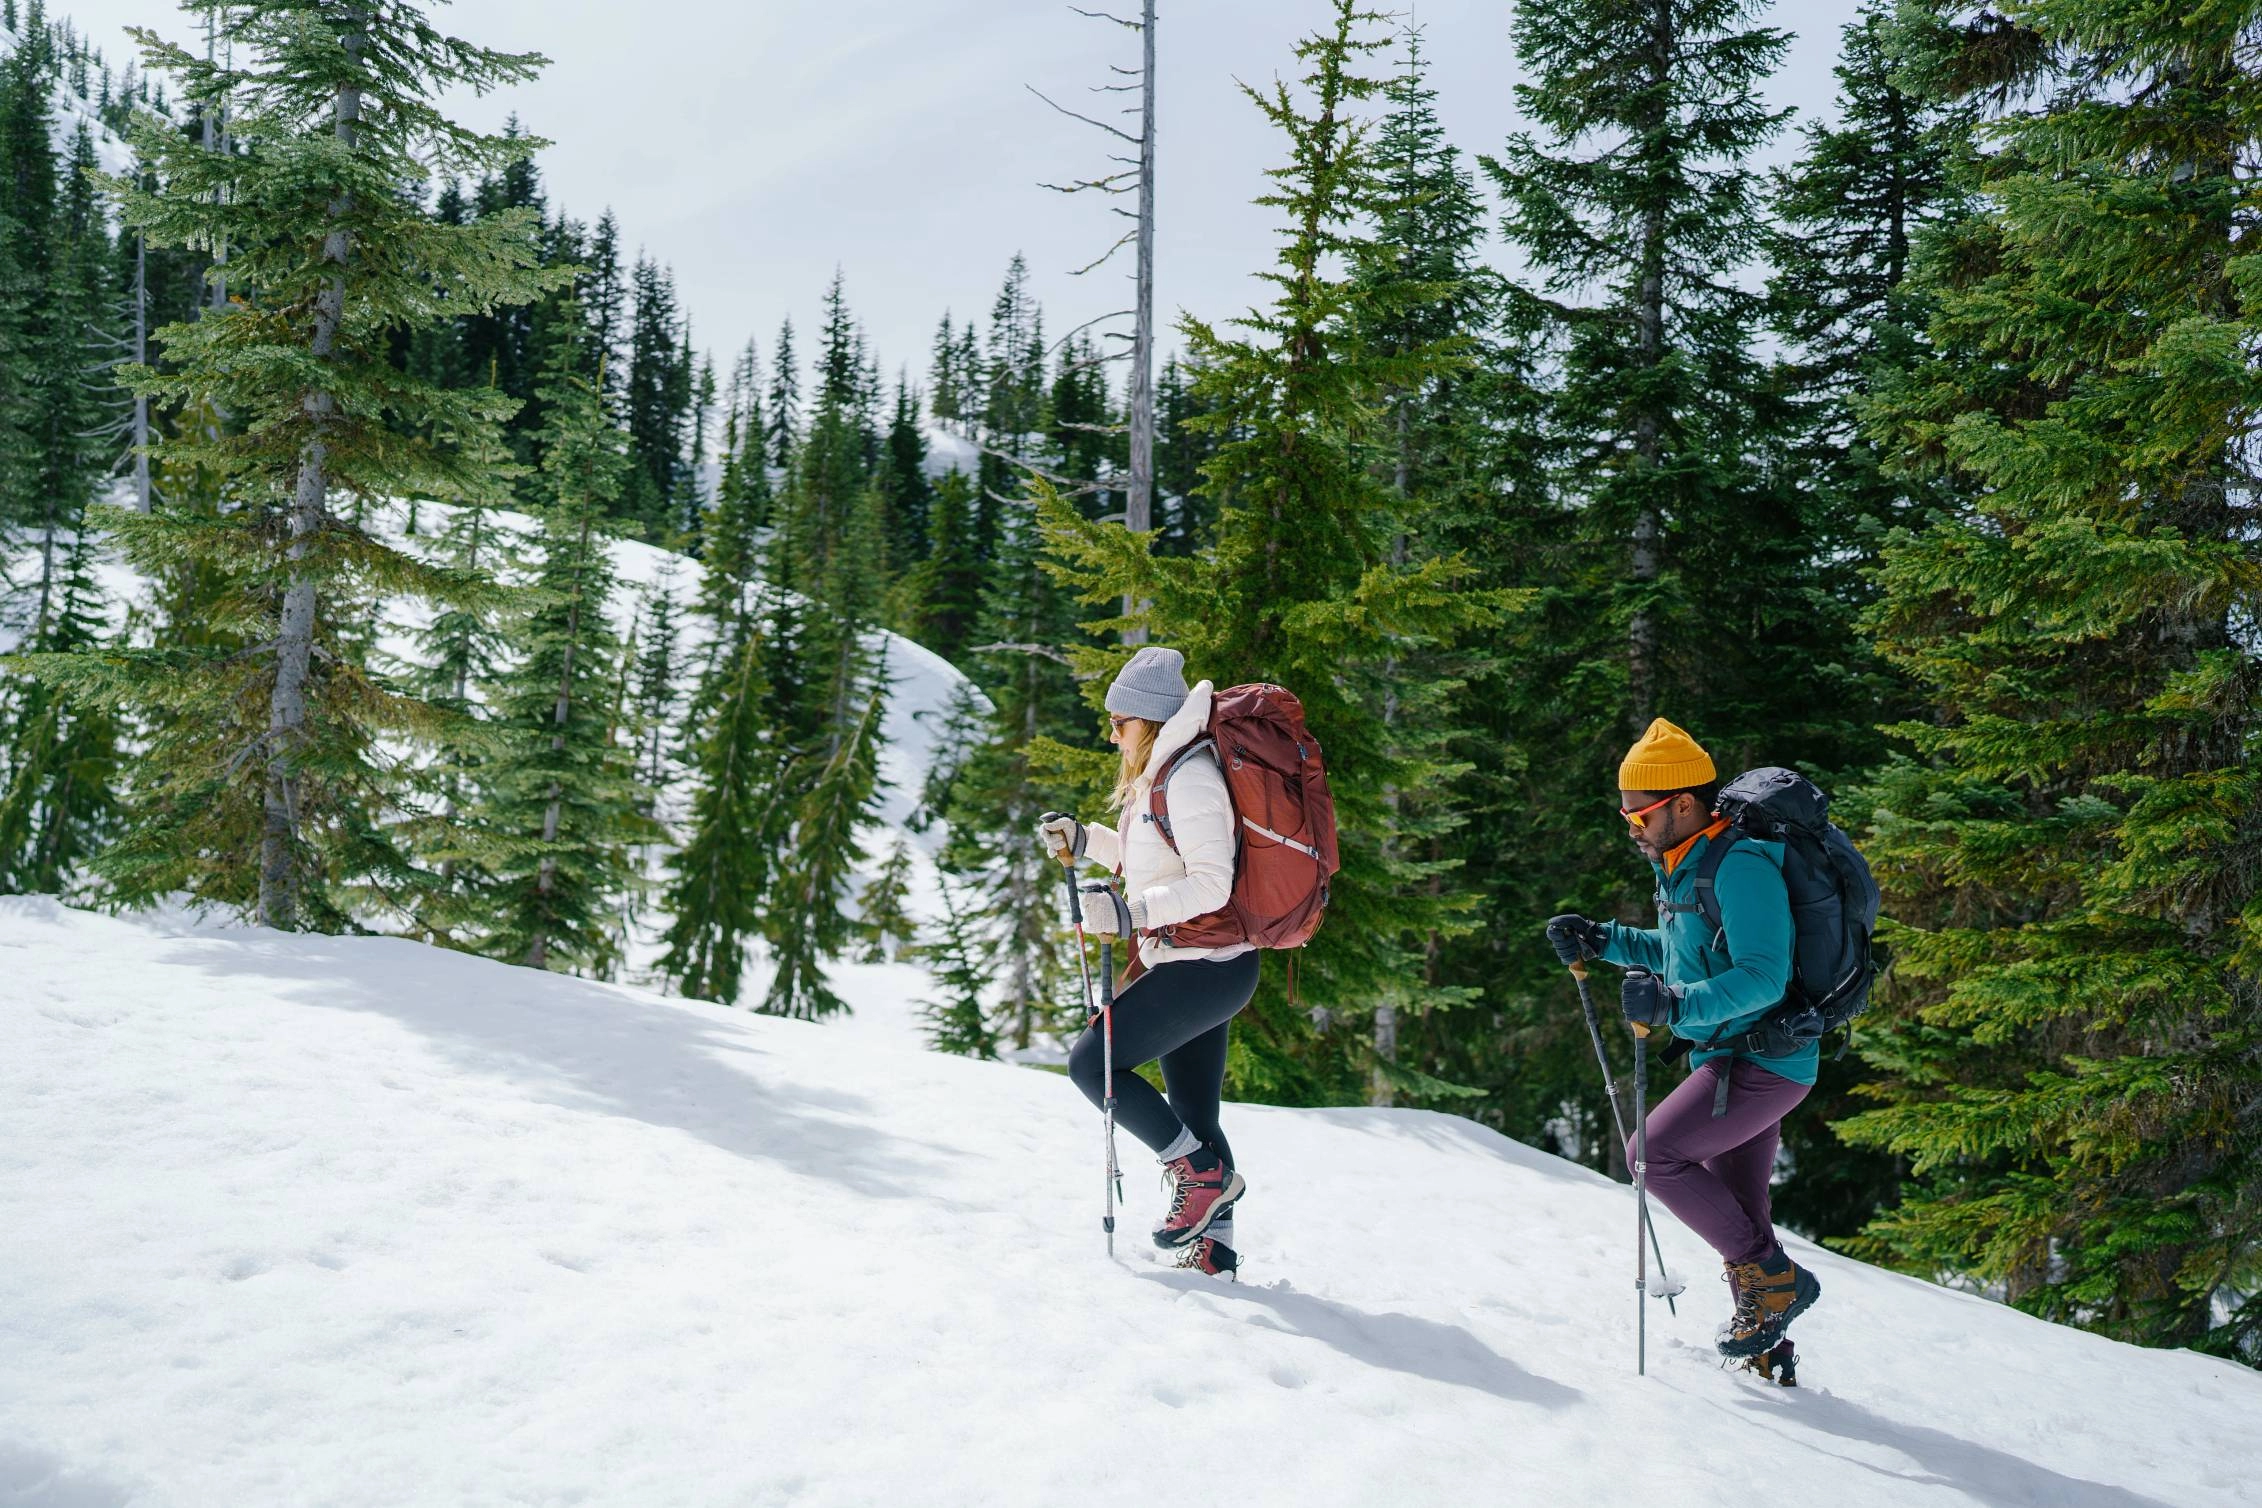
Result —
[{"label": "grey trunk of the large evergreen standing left on the snow's edge", "polygon": [[[360,25],[366,9],[346,11],[342,38],[346,57],[360,63],[366,36]],[[344,84],[333,104],[333,129],[348,151],[362,122],[362,90]],[[314,339],[310,355],[328,362],[337,353],[337,330],[346,319],[346,262],[353,255],[353,233],[344,217],[353,194],[330,201],[330,233],[321,240],[321,260],[333,267],[330,280],[314,296]],[[305,558],[328,520],[328,463],[323,436],[337,414],[337,396],[310,389],[303,398],[312,434],[299,452],[299,482],[290,502],[290,543],[283,549],[287,586],[283,590],[283,624],[276,631],[276,683],[267,699],[267,789],[262,794],[265,832],[260,837],[260,922],[290,931],[299,925],[299,773],[296,751],[305,733],[305,681],[314,658],[314,577]]]}]

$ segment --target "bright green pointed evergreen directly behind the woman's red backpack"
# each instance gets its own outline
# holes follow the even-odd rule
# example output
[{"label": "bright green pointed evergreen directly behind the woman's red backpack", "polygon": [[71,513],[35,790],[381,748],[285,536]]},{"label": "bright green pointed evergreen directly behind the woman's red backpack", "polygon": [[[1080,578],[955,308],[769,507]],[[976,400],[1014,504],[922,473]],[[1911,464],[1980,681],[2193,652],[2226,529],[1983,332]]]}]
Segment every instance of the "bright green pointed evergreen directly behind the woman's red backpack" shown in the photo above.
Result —
[{"label": "bright green pointed evergreen directly behind the woman's red backpack", "polygon": [[[1287,167],[1271,170],[1262,203],[1283,213],[1278,289],[1233,339],[1199,319],[1183,330],[1201,359],[1208,423],[1228,439],[1210,461],[1219,491],[1217,545],[1206,556],[1149,554],[1149,536],[1079,520],[1061,500],[1045,525],[1061,574],[1086,601],[1149,601],[1140,615],[1154,642],[1185,651],[1219,685],[1276,681],[1292,687],[1328,755],[1341,859],[1328,925],[1298,963],[1305,1006],[1285,979],[1267,979],[1235,1038],[1235,1085],[1276,1101],[1341,1101],[1373,1069],[1364,1022],[1348,1013],[1421,977],[1421,945],[1454,925],[1464,904],[1432,891],[1407,855],[1391,791],[1427,789],[1450,769],[1430,730],[1378,714],[1382,671],[1393,658],[1491,624],[1495,592],[1461,590],[1452,556],[1393,558],[1407,509],[1369,466],[1378,414],[1393,389],[1441,371],[1452,357],[1430,346],[1384,350],[1373,330],[1418,296],[1382,296],[1364,269],[1378,255],[1362,231],[1378,208],[1373,142],[1353,120],[1380,81],[1359,59],[1384,43],[1362,36],[1371,20],[1337,0],[1332,25],[1296,47],[1307,104],[1285,86],[1251,90],[1287,138]],[[1090,624],[1115,626],[1117,619]],[[1079,656],[1106,674],[1120,649]],[[1093,681],[1097,696],[1104,681]],[[1416,995],[1418,1004],[1418,995]],[[1346,1029],[1335,1029],[1346,1013]]]}]

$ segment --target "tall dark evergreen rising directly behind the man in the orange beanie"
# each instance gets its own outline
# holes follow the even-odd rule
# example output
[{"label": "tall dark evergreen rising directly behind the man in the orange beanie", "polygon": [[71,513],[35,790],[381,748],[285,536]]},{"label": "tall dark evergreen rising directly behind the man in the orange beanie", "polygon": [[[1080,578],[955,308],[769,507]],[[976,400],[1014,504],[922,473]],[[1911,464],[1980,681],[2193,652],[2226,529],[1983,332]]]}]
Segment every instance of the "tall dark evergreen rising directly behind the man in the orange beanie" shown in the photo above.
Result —
[{"label": "tall dark evergreen rising directly behind the man in the orange beanie", "polygon": [[[1644,920],[1649,873],[1597,791],[1654,714],[1696,730],[1724,773],[1801,766],[1828,787],[1875,755],[1882,705],[1855,669],[1850,601],[1823,567],[1816,495],[1773,466],[1787,425],[1762,348],[1762,179],[1782,127],[1760,97],[1787,38],[1749,0],[1626,9],[1534,0],[1516,14],[1531,131],[1484,158],[1529,271],[1504,330],[1547,371],[1540,445],[1495,515],[1502,579],[1536,590],[1495,651],[1488,805],[1506,843],[1484,875],[1502,920]],[[1545,950],[1464,956],[1500,1006],[1502,1128],[1617,1167],[1592,1049]],[[1464,974],[1466,977],[1466,974]],[[1565,1106],[1577,1115],[1565,1117]]]}]

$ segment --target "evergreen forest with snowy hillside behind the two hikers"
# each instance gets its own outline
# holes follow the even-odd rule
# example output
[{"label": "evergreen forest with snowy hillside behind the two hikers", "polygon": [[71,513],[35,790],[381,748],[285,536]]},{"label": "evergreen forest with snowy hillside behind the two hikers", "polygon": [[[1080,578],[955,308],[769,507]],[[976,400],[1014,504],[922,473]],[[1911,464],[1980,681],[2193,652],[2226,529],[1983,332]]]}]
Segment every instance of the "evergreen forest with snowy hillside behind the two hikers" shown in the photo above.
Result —
[{"label": "evergreen forest with snowy hillside behind the two hikers", "polygon": [[[439,104],[543,66],[473,7],[188,0],[113,66],[0,0],[0,893],[805,1020],[912,961],[936,1047],[1043,1058],[1031,834],[1172,644],[1298,692],[1344,832],[1228,1094],[1624,1178],[1540,925],[1651,920],[1669,717],[1884,889],[1778,1219],[2262,1363],[2262,5],[1871,0],[1792,118],[1787,7],[1518,0],[1502,140],[1305,9],[1264,301],[1133,375],[1011,253],[927,350],[855,246],[694,337],[552,201],[575,122]],[[891,832],[903,642],[966,685]]]}]

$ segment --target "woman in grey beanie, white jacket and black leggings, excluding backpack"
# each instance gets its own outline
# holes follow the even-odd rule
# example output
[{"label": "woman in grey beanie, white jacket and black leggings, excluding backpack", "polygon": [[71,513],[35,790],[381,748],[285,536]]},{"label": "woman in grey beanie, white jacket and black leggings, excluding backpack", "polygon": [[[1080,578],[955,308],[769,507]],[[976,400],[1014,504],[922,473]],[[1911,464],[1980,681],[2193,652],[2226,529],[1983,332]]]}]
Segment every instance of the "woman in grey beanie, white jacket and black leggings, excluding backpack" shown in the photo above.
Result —
[{"label": "woman in grey beanie, white jacket and black leggings, excluding backpack", "polygon": [[[1249,1187],[1233,1171],[1233,1149],[1217,1126],[1226,1085],[1226,1031],[1258,988],[1258,950],[1181,947],[1181,922],[1203,918],[1233,893],[1233,803],[1212,751],[1188,755],[1169,775],[1176,848],[1149,816],[1149,791],[1172,755],[1203,737],[1210,683],[1185,687],[1185,656],[1145,647],[1108,687],[1108,742],[1122,751],[1111,809],[1122,830],[1052,816],[1038,827],[1054,861],[1081,859],[1122,875],[1122,898],[1083,895],[1083,929],[1136,938],[1145,972],[1115,997],[1115,1119],[1154,1149],[1169,1189],[1156,1246],[1179,1266],[1233,1273],[1233,1205]],[[1136,972],[1136,970],[1133,970]],[[1163,1065],[1169,1097],[1133,1069]],[[1099,1024],[1068,1051],[1068,1076],[1095,1106],[1106,1103]]]}]

